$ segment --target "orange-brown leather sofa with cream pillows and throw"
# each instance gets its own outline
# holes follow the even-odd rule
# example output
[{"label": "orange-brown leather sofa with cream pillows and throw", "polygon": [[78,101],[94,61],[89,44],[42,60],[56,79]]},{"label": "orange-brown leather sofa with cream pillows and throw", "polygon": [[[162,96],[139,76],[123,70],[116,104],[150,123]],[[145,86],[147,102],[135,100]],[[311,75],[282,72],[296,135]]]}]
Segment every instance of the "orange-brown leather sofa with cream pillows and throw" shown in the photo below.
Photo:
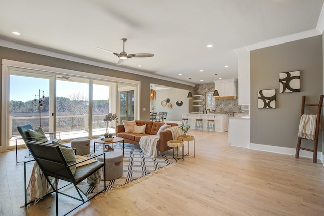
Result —
[{"label": "orange-brown leather sofa with cream pillows and throw", "polygon": [[[158,129],[164,125],[165,123],[163,122],[153,122],[153,121],[141,121],[141,120],[135,120],[137,126],[143,126],[146,124],[145,127],[145,134],[138,134],[138,133],[133,133],[133,132],[125,132],[124,125],[117,125],[116,128],[116,136],[124,138],[125,143],[130,143],[139,146],[139,141],[142,136],[146,135],[156,135],[158,132]],[[171,126],[178,126],[176,123],[167,123],[168,125]],[[167,151],[169,149],[172,149],[167,146],[167,142],[169,140],[172,140],[172,133],[169,130],[166,131],[161,131],[160,132],[160,139],[157,142],[156,149],[157,151]]]}]

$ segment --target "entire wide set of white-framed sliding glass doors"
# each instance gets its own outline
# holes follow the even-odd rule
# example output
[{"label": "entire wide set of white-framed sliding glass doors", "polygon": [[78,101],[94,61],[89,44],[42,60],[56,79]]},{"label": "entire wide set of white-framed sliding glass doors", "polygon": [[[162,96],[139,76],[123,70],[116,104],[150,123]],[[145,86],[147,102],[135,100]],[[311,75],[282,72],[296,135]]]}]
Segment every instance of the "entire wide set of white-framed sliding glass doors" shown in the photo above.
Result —
[{"label": "entire wide set of white-framed sliding glass doors", "polygon": [[[19,125],[28,123],[34,129],[42,127],[45,132],[59,132],[61,140],[68,142],[103,135],[106,130],[103,118],[110,112],[118,116],[118,121],[109,124],[109,133],[113,134],[121,119],[134,120],[138,115],[137,81],[128,84],[120,79],[110,81],[114,78],[102,75],[62,73],[62,69],[17,64],[17,67],[3,64],[1,135],[5,149],[15,148],[16,138],[20,137]],[[20,141],[19,147],[24,147],[23,140]]]}]

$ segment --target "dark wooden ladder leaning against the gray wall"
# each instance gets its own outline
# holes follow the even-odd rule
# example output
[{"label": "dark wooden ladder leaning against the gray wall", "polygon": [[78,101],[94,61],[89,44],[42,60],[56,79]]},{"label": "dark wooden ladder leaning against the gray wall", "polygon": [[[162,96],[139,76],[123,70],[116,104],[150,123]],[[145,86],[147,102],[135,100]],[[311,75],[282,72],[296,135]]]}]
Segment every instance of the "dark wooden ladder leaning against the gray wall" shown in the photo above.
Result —
[{"label": "dark wooden ladder leaning against the gray wall", "polygon": [[319,133],[319,124],[320,124],[320,115],[321,115],[321,110],[322,110],[322,104],[323,104],[323,98],[324,95],[320,95],[319,103],[318,104],[305,104],[305,96],[302,96],[302,111],[301,111],[301,116],[304,114],[305,107],[307,106],[316,106],[317,108],[317,118],[316,118],[316,130],[315,130],[315,139],[314,139],[314,147],[313,149],[307,149],[307,148],[302,148],[300,147],[301,141],[303,138],[298,137],[297,141],[297,147],[296,147],[296,154],[295,157],[299,157],[299,150],[306,150],[306,151],[311,151],[313,152],[313,163],[317,163],[317,143],[318,143],[318,133]]}]

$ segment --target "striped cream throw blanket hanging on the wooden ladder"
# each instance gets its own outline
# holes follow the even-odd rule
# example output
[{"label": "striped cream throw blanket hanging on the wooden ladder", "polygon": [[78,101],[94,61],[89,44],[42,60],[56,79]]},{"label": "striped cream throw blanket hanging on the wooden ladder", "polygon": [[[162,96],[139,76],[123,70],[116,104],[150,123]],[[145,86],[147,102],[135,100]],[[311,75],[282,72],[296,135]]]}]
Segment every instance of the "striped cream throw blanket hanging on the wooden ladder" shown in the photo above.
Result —
[{"label": "striped cream throw blanket hanging on the wooden ladder", "polygon": [[302,115],[299,122],[298,137],[307,140],[315,139],[317,115]]}]

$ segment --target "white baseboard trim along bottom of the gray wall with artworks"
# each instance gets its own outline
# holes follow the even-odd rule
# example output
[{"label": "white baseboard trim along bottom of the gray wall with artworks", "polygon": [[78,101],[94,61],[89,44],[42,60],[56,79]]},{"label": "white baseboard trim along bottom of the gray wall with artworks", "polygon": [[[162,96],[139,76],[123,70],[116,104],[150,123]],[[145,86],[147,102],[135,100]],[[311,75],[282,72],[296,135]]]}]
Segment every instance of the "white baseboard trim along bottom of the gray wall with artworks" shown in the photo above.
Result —
[{"label": "white baseboard trim along bottom of the gray wall with artworks", "polygon": [[[270,146],[270,145],[263,145],[263,144],[257,144],[257,143],[250,143],[248,148],[253,149],[253,150],[273,152],[273,153],[278,153],[278,154],[295,155],[295,153],[296,153],[296,148]],[[313,158],[313,153],[309,152],[309,151],[300,150],[299,156]],[[324,155],[322,152],[317,152],[317,159],[319,159],[321,161],[321,163],[324,165]]]}]

